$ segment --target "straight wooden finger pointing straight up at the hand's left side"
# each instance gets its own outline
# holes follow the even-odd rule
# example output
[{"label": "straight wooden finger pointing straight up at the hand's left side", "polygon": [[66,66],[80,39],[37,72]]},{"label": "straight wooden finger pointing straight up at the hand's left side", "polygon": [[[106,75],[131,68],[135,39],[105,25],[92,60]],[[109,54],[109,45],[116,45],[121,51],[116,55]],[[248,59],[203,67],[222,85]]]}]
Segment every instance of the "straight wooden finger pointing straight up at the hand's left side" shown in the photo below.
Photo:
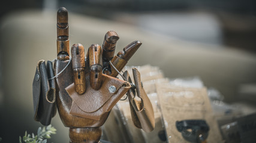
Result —
[{"label": "straight wooden finger pointing straight up at the hand's left side", "polygon": [[68,11],[61,7],[57,12],[57,54],[58,60],[68,60],[70,39],[68,37]]}]

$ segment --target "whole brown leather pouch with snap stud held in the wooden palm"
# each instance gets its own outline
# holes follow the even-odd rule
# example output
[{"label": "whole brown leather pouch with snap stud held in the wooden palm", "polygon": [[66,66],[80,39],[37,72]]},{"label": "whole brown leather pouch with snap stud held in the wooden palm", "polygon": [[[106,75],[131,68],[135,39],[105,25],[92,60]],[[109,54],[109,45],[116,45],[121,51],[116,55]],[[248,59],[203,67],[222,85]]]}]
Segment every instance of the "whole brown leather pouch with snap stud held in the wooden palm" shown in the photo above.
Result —
[{"label": "whole brown leather pouch with snap stud held in the wooden palm", "polygon": [[86,74],[86,92],[84,94],[77,94],[74,83],[65,88],[73,100],[70,114],[100,120],[101,116],[109,112],[131,88],[128,82],[106,74],[103,74],[101,84],[101,88],[97,91],[92,89],[89,83],[89,74]]}]

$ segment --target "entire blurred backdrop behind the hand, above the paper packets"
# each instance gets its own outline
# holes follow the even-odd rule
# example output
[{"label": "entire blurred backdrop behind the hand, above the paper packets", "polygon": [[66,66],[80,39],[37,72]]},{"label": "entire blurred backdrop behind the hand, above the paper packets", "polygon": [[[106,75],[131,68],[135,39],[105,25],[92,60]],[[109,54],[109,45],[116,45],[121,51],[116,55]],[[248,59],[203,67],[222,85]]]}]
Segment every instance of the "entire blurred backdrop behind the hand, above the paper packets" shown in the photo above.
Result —
[{"label": "entire blurred backdrop behind the hand, above the paper packets", "polygon": [[[130,66],[158,66],[165,77],[198,76],[224,101],[256,102],[256,1],[23,0],[0,5],[0,137],[36,132],[32,80],[38,60],[56,58],[56,11],[69,11],[70,44],[102,44],[115,30],[116,51],[143,43]],[[87,49],[86,49],[87,50]],[[59,116],[52,142],[67,142]]]}]

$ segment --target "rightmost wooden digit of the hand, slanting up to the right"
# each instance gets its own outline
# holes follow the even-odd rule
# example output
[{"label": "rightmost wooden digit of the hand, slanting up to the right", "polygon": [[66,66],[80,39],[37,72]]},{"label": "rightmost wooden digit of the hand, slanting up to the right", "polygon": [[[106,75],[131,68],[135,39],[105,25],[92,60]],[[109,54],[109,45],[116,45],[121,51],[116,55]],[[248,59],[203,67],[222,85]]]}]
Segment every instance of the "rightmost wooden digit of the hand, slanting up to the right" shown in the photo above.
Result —
[{"label": "rightmost wooden digit of the hand, slanting up to the right", "polygon": [[[125,65],[128,63],[129,59],[134,55],[140,45],[142,43],[140,41],[131,42],[129,45],[125,46],[125,48],[118,52],[117,55],[111,60],[113,66],[116,67],[118,71],[121,71]],[[106,74],[109,76],[116,77],[118,76],[118,72],[111,66],[111,71],[106,71]]]}]

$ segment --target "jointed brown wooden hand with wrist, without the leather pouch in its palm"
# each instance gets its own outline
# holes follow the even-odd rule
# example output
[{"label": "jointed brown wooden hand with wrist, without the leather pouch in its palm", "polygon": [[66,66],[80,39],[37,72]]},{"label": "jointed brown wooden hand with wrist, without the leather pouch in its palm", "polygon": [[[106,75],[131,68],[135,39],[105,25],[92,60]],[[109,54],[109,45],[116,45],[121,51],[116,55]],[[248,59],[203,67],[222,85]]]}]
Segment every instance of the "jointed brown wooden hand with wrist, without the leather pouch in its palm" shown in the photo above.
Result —
[{"label": "jointed brown wooden hand with wrist, without the leather pouch in its palm", "polygon": [[[112,107],[107,112],[103,112],[99,120],[70,114],[74,101],[65,88],[74,83],[77,94],[82,95],[89,85],[95,91],[100,90],[103,74],[112,78],[118,76],[118,72],[124,68],[141,45],[139,41],[134,41],[114,56],[118,39],[116,32],[109,31],[104,37],[102,47],[92,44],[85,56],[83,45],[76,43],[71,47],[70,56],[68,12],[65,8],[60,8],[57,13],[58,58],[53,67],[55,75],[58,75],[55,80],[56,104],[62,123],[70,128],[70,142],[98,142],[101,136],[100,126],[106,122]],[[89,74],[89,82],[86,83],[87,74]]]}]

